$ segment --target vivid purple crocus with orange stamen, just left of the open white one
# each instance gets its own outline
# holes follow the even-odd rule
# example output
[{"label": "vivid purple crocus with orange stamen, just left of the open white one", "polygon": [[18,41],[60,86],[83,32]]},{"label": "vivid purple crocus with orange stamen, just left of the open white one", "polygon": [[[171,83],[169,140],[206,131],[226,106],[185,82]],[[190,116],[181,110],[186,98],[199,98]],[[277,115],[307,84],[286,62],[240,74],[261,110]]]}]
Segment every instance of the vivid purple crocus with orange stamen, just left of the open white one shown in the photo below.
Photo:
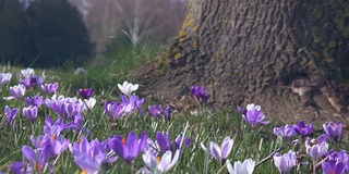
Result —
[{"label": "vivid purple crocus with orange stamen, just left of the open white one", "polygon": [[130,132],[127,138],[116,135],[113,138],[108,138],[108,145],[120,158],[128,164],[143,151],[146,145],[146,133],[141,134],[141,139],[134,132]]}]

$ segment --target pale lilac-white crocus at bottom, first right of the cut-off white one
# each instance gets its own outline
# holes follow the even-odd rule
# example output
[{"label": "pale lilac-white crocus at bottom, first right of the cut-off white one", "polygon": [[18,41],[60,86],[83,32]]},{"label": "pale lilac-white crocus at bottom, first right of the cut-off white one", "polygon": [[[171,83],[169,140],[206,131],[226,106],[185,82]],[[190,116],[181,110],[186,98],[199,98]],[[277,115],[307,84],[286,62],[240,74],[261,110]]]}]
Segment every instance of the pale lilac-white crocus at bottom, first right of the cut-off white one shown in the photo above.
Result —
[{"label": "pale lilac-white crocus at bottom, first right of the cut-off white one", "polygon": [[297,163],[296,152],[290,150],[284,156],[276,152],[273,157],[275,166],[279,170],[280,174],[287,174]]}]

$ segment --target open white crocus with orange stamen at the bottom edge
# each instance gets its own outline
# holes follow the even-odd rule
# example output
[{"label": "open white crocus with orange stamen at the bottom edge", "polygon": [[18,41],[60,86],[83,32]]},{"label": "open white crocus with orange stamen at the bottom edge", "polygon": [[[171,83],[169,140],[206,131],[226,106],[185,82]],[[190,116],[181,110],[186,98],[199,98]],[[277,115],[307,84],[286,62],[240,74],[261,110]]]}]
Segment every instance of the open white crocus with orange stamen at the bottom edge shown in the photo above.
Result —
[{"label": "open white crocus with orange stamen at the bottom edge", "polygon": [[179,154],[180,150],[177,150],[172,159],[172,152],[167,150],[160,159],[155,157],[151,151],[146,151],[143,154],[143,161],[152,170],[152,173],[164,173],[174,166],[178,162]]}]

